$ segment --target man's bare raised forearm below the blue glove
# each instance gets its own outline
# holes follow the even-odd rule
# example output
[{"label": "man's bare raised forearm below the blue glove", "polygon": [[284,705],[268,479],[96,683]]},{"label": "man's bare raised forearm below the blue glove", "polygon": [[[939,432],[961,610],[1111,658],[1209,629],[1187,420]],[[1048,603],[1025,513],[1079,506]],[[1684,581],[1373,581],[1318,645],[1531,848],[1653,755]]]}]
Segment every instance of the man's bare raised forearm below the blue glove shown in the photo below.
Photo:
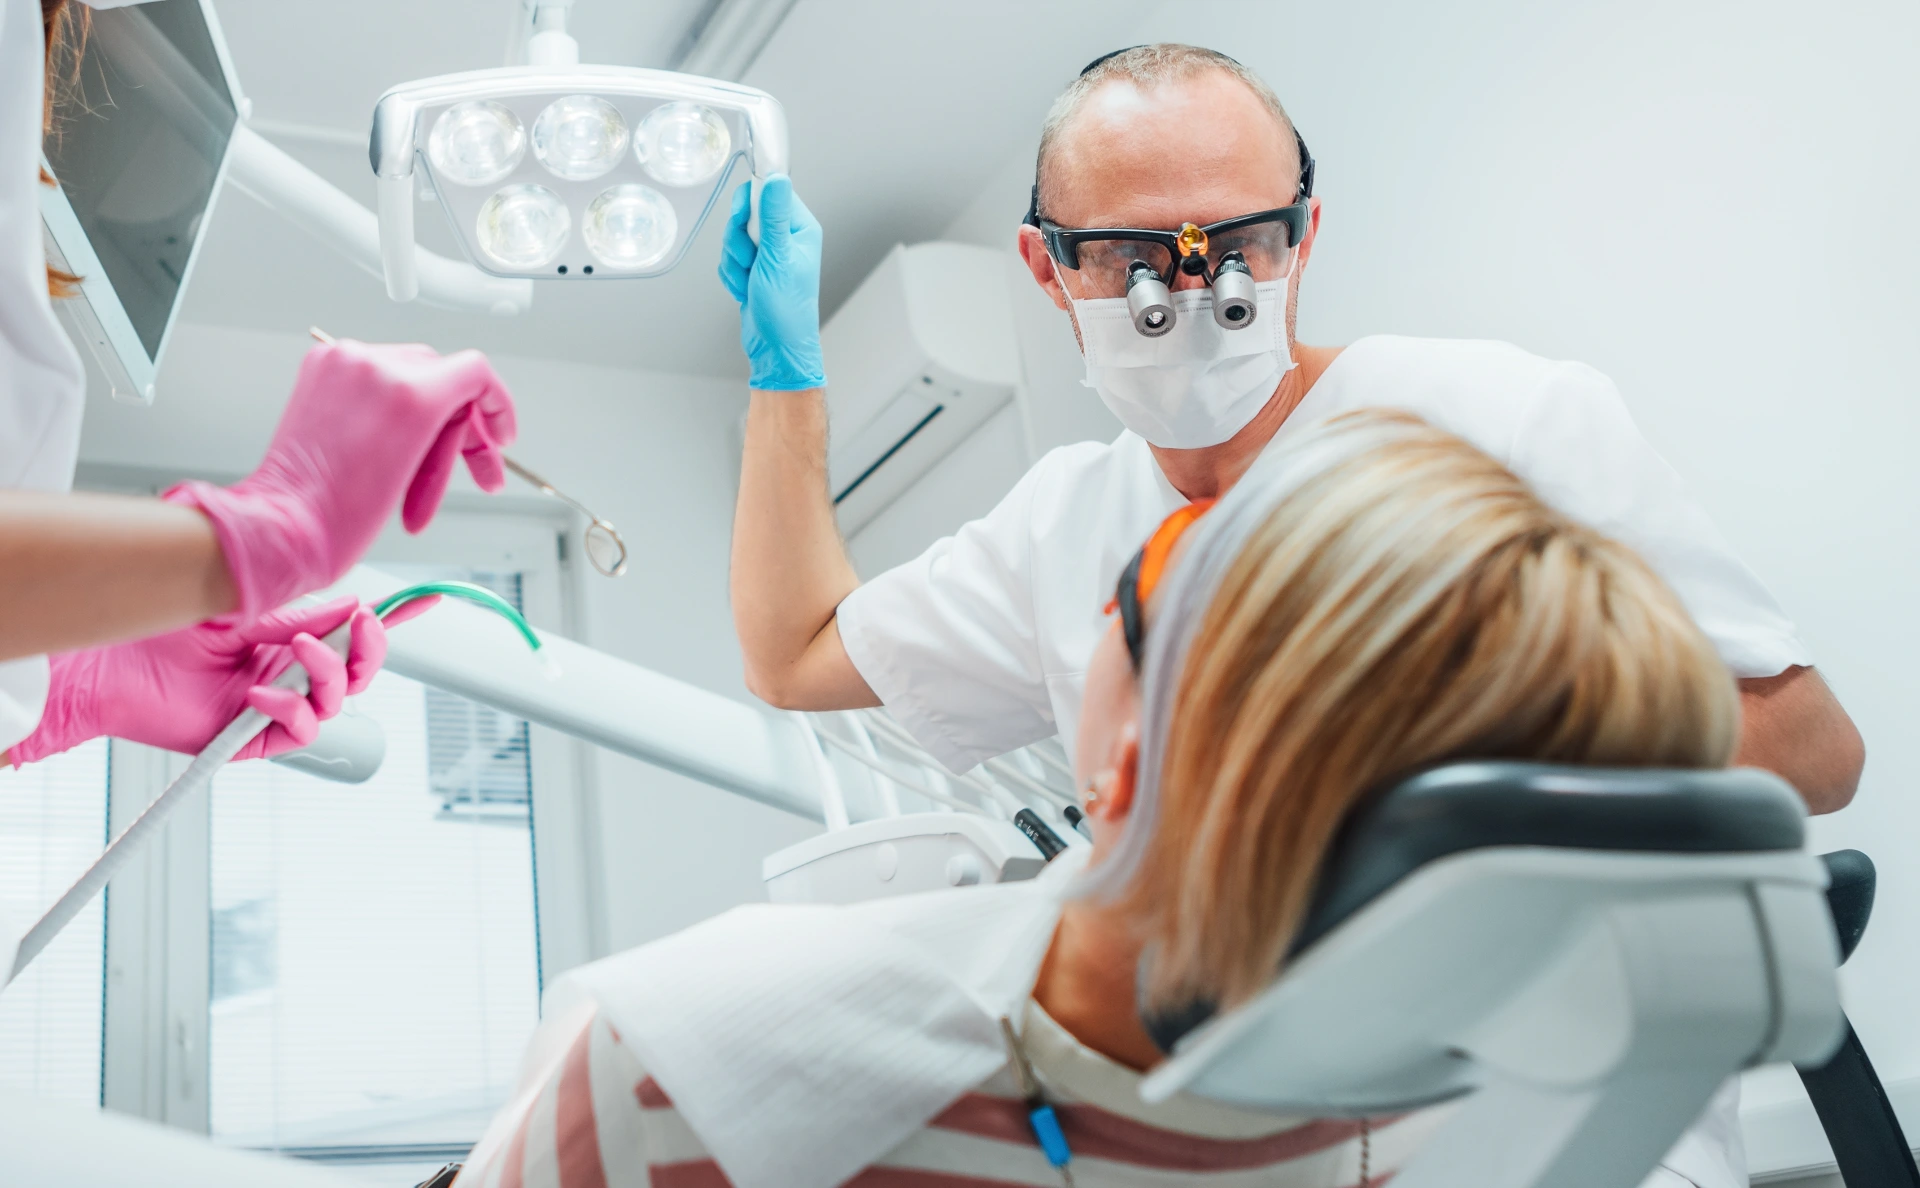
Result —
[{"label": "man's bare raised forearm below the blue glove", "polygon": [[856,585],[828,497],[824,393],[755,392],[730,578],[755,697],[797,710],[879,704],[847,658],[833,618]]}]

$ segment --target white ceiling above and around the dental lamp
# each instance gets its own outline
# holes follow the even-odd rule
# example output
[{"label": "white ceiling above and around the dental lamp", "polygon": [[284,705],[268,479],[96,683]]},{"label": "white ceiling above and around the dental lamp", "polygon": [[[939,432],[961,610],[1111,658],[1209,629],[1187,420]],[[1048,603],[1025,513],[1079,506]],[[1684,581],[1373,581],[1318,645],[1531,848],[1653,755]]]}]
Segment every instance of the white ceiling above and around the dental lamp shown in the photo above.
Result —
[{"label": "white ceiling above and around the dental lamp", "polygon": [[[394,83],[503,63],[520,0],[217,8],[255,121],[359,140]],[[1010,155],[1031,154],[1060,86],[1127,44],[1150,8],[1154,0],[799,0],[743,81],[787,107],[793,177],[826,228],[826,309],[895,242],[939,236]],[[664,65],[699,10],[701,0],[578,0],[572,31],[586,61]],[[365,148],[275,140],[372,205]],[[1020,215],[1006,211],[1008,240]],[[459,253],[436,215],[422,219],[420,242]],[[716,259],[714,219],[668,276],[540,282],[530,315],[459,315],[390,303],[376,278],[228,190],[182,317],[733,376],[745,370],[739,319],[712,278]]]}]

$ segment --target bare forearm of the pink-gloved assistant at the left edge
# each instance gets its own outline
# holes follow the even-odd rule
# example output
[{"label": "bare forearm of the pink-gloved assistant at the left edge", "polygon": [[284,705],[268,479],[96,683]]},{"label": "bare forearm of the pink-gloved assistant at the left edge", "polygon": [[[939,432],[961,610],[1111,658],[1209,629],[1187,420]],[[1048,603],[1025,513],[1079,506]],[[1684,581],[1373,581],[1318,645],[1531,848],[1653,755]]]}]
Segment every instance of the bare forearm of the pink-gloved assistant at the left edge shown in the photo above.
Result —
[{"label": "bare forearm of the pink-gloved assistant at the left edge", "polygon": [[156,635],[238,605],[213,524],[190,507],[0,491],[0,660]]}]

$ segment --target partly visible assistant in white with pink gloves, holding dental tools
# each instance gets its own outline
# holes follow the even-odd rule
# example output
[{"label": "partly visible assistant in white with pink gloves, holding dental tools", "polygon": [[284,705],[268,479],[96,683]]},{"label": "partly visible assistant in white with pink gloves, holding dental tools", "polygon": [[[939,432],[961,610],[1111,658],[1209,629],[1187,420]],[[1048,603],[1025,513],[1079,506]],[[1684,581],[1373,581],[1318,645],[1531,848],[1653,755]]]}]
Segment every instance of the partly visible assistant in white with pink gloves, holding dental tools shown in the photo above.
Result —
[{"label": "partly visible assistant in white with pink gloves, holding dental tools", "polygon": [[[83,29],[67,0],[0,0],[0,762],[100,735],[196,752],[248,706],[275,725],[240,758],[303,747],[386,641],[353,599],[282,605],[346,574],[396,507],[424,528],[461,457],[499,489],[513,399],[472,351],[315,347],[246,480],[73,495],[84,372],[52,294],[75,278],[46,265],[36,186],[48,71]],[[319,641],[342,624],[346,658]],[[305,697],[271,687],[296,660]]]}]

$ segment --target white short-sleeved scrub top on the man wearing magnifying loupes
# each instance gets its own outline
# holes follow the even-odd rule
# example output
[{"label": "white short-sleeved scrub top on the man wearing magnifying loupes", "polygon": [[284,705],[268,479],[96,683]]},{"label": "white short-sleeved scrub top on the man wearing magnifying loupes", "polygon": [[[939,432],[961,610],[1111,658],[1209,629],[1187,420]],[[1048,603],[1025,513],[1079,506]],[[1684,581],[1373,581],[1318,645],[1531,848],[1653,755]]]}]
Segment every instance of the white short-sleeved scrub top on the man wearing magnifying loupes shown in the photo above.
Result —
[{"label": "white short-sleeved scrub top on the man wearing magnifying loupes", "polygon": [[[1361,338],[1275,441],[1363,407],[1404,409],[1459,434],[1559,511],[1636,549],[1736,676],[1812,662],[1597,370],[1501,342]],[[1054,449],[985,518],[847,595],[847,654],[954,772],[1056,731],[1071,750],[1114,582],[1183,503],[1131,432]]]}]

